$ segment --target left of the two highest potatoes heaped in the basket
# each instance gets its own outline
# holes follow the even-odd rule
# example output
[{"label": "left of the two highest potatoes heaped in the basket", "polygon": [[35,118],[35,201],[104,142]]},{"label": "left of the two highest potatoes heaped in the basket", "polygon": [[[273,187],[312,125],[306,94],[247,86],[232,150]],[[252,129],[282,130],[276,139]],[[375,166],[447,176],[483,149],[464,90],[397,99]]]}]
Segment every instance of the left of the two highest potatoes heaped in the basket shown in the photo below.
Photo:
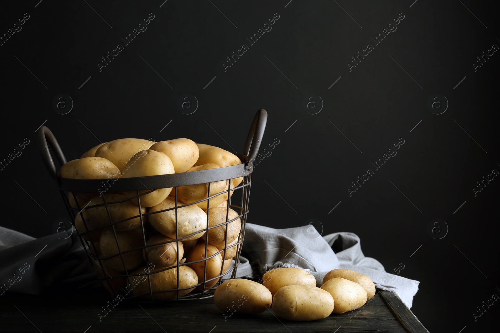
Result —
[{"label": "left of the two highest potatoes heaped in the basket", "polygon": [[144,139],[117,139],[109,141],[95,151],[95,156],[103,157],[111,161],[116,167],[123,171],[126,163],[139,151],[149,149],[156,142]]}]

